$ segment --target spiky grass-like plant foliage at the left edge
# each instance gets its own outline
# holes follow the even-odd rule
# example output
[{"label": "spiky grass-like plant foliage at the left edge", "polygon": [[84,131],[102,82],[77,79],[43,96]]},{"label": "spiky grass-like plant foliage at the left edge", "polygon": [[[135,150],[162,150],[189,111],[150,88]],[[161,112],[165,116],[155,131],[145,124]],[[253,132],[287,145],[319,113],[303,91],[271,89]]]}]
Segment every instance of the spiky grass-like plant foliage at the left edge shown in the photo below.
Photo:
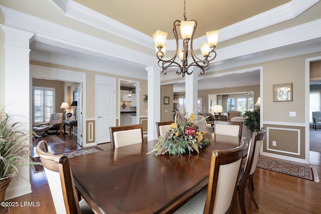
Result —
[{"label": "spiky grass-like plant foliage at the left edge", "polygon": [[18,176],[18,167],[29,165],[30,147],[26,144],[30,133],[19,130],[21,123],[10,122],[11,117],[0,112],[0,202],[4,201],[6,189],[14,176]]}]

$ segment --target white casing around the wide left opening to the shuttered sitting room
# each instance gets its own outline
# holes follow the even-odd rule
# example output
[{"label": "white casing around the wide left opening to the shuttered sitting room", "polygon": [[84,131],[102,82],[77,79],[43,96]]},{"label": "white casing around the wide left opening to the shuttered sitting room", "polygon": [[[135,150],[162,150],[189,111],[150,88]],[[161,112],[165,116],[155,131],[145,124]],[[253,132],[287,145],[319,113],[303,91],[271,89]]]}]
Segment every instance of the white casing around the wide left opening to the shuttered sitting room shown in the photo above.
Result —
[{"label": "white casing around the wide left opening to the shuttered sitting room", "polygon": [[[86,131],[84,131],[84,124],[86,124],[86,73],[65,70],[65,69],[58,69],[58,68],[51,68],[45,66],[38,66],[38,65],[30,65],[30,74],[32,78],[39,78],[39,79],[47,79],[47,80],[59,80],[64,82],[75,82],[75,83],[82,83],[83,85],[83,117],[82,117],[82,140],[83,140],[83,147],[96,145],[96,144],[87,144],[86,143]],[[31,86],[32,87],[32,86]],[[32,105],[32,103],[30,103]],[[30,107],[32,110],[32,106]],[[30,122],[32,123],[32,122]]]}]

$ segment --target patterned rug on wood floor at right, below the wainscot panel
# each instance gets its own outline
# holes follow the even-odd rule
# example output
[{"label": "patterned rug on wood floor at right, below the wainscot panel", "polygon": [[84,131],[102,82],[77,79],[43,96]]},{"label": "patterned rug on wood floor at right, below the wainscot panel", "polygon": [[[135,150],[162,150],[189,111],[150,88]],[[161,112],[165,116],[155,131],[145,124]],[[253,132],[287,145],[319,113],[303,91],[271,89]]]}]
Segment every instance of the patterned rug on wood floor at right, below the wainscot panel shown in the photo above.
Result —
[{"label": "patterned rug on wood floor at right, below the wainscot panel", "polygon": [[319,182],[315,168],[259,157],[257,167]]}]

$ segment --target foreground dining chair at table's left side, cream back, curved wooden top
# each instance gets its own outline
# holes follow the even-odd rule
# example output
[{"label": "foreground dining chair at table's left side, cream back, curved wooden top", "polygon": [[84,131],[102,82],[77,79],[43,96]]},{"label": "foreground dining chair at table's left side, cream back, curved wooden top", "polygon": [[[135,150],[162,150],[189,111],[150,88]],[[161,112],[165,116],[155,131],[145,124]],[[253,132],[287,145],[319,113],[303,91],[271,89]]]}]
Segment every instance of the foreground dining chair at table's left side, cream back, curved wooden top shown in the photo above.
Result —
[{"label": "foreground dining chair at table's left side, cream back, curved wooden top", "polygon": [[36,153],[45,169],[56,213],[94,213],[84,199],[78,200],[68,157],[47,151],[47,142],[40,141]]}]

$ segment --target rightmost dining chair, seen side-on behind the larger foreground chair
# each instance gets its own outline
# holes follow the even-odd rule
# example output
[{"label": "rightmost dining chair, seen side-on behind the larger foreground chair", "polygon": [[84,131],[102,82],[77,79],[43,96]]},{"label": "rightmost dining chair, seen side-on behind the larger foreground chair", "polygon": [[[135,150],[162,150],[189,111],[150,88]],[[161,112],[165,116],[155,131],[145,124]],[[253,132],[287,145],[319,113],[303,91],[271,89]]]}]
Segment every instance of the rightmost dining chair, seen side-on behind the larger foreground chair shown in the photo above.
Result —
[{"label": "rightmost dining chair, seen side-on behind the larger foreground chair", "polygon": [[255,207],[257,209],[259,208],[253,195],[253,190],[254,190],[253,176],[256,171],[256,164],[259,158],[259,154],[260,154],[260,150],[263,144],[265,134],[266,134],[266,131],[263,128],[261,128],[260,132],[253,132],[251,141],[248,146],[245,166],[244,166],[244,169],[243,168],[241,169],[237,190],[239,191],[239,204],[240,204],[242,214],[246,213],[245,200],[244,200],[244,191],[246,186],[249,190],[250,197]]}]

